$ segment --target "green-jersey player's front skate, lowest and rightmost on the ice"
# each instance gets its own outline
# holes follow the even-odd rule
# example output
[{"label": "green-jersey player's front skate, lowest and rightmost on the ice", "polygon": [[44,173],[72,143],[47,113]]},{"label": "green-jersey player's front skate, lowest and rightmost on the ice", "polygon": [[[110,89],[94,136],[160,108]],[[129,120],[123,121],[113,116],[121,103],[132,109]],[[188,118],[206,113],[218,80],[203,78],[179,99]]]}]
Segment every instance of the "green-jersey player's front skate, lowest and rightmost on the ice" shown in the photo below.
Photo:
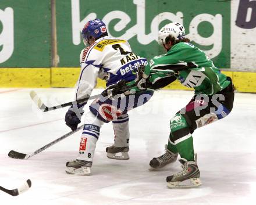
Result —
[{"label": "green-jersey player's front skate, lowest and rightmost on the ice", "polygon": [[187,161],[183,158],[179,160],[182,163],[182,171],[166,178],[169,188],[191,188],[202,185],[196,158],[195,154],[195,161]]}]

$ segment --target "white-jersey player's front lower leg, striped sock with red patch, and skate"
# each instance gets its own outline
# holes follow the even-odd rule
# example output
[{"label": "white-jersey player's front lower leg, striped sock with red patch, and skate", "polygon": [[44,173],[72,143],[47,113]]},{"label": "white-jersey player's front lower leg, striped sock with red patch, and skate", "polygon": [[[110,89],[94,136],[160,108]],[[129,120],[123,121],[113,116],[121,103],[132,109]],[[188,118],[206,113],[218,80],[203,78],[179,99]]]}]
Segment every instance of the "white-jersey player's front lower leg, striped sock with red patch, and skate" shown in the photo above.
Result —
[{"label": "white-jersey player's front lower leg, striped sock with red patch, and skate", "polygon": [[85,116],[83,133],[81,135],[79,156],[76,160],[66,163],[67,174],[90,175],[93,164],[94,151],[99,138],[99,132],[103,121],[88,112]]}]

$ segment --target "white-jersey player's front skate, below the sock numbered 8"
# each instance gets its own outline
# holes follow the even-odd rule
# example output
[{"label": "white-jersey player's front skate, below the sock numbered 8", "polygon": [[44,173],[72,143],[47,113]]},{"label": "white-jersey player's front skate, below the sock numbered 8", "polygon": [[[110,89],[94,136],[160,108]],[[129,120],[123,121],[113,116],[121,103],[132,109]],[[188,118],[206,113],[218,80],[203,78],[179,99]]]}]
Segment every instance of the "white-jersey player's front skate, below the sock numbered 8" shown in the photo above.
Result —
[{"label": "white-jersey player's front skate, below the sock numbered 8", "polygon": [[92,164],[92,161],[84,160],[67,161],[65,171],[67,174],[90,175]]}]

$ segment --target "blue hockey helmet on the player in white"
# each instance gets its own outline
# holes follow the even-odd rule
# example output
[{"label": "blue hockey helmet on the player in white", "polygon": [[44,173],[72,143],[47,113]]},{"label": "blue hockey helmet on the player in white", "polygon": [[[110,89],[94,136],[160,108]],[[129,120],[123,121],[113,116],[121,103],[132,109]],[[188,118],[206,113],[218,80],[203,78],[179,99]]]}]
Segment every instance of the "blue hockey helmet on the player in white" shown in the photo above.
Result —
[{"label": "blue hockey helmet on the player in white", "polygon": [[100,19],[94,19],[88,21],[82,30],[82,36],[84,39],[84,44],[89,43],[89,39],[94,37],[95,40],[97,40],[102,35],[108,35],[106,32],[106,25],[105,23]]}]

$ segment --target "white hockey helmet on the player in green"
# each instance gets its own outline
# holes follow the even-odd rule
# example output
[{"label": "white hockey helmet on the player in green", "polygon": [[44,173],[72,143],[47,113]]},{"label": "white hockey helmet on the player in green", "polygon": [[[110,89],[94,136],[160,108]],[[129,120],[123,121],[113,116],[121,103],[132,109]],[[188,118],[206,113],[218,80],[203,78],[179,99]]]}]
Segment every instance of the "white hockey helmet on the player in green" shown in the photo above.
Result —
[{"label": "white hockey helmet on the player in green", "polygon": [[185,36],[185,28],[182,24],[173,22],[168,23],[164,27],[159,30],[158,34],[158,44],[162,45],[165,44],[165,39],[169,35],[175,37],[176,40],[183,39]]}]

